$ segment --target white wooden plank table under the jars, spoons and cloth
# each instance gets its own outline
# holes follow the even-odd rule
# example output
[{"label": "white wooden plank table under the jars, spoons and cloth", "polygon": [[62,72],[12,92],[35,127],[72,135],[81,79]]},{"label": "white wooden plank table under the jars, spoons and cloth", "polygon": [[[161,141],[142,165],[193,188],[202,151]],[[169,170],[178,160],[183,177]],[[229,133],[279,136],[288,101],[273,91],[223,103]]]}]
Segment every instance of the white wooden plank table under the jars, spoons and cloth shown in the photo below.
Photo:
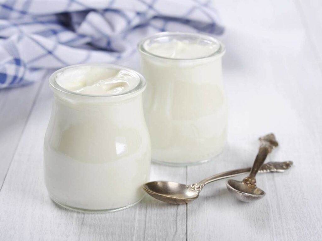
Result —
[{"label": "white wooden plank table under the jars, spoons and cloth", "polygon": [[[233,199],[222,180],[188,205],[146,196],[109,214],[62,209],[43,181],[52,93],[39,80],[0,91],[0,240],[322,239],[322,1],[218,0],[216,7],[226,26],[227,147],[204,165],[152,165],[151,180],[193,183],[250,166],[257,138],[271,131],[280,147],[269,161],[295,166],[259,174],[267,194],[255,203]],[[137,60],[122,64],[137,68]]]}]

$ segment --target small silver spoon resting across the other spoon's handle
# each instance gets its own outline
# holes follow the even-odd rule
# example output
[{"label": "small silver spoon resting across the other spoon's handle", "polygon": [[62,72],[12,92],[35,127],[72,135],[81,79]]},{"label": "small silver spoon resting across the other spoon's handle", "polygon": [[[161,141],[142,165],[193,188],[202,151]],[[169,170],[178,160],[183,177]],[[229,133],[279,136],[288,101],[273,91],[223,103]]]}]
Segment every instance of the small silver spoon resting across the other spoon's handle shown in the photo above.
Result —
[{"label": "small silver spoon resting across the other spoon's handle", "polygon": [[278,142],[275,139],[273,133],[268,134],[260,138],[260,148],[254,164],[251,168],[250,174],[244,178],[244,180],[227,180],[227,189],[234,194],[234,196],[240,201],[250,202],[261,199],[265,196],[265,192],[256,186],[256,174],[263,165],[267,155],[278,146]]}]

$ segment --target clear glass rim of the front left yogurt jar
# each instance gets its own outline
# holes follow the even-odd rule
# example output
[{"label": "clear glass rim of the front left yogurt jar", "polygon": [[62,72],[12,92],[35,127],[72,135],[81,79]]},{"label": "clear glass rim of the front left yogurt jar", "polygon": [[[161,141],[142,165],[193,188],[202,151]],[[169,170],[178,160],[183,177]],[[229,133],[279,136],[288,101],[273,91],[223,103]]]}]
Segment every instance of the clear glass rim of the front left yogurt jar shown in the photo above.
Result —
[{"label": "clear glass rim of the front left yogurt jar", "polygon": [[[70,68],[74,68],[74,67],[82,67],[82,66],[98,66],[98,67],[107,67],[109,69],[117,69],[117,70],[128,70],[130,71],[133,75],[137,76],[139,79],[139,83],[137,84],[136,87],[134,87],[133,89],[124,92],[124,93],[117,93],[117,94],[82,94],[82,93],[78,93],[78,92],[73,92],[70,90],[67,90],[65,88],[63,88],[61,85],[59,85],[56,81],[56,76],[58,73],[61,73],[64,70],[70,69]],[[54,93],[57,94],[65,94],[66,96],[74,96],[74,97],[80,97],[80,98],[97,98],[99,100],[102,100],[103,98],[113,98],[113,97],[126,97],[126,96],[132,96],[132,95],[137,95],[141,92],[143,92],[146,88],[146,80],[145,78],[138,73],[136,70],[129,68],[129,67],[125,67],[122,65],[116,65],[116,64],[108,64],[108,63],[87,63],[87,64],[77,64],[77,65],[70,65],[67,67],[63,67],[60,68],[58,70],[56,70],[55,72],[53,72],[51,74],[51,76],[49,77],[49,85],[52,88]]]}]

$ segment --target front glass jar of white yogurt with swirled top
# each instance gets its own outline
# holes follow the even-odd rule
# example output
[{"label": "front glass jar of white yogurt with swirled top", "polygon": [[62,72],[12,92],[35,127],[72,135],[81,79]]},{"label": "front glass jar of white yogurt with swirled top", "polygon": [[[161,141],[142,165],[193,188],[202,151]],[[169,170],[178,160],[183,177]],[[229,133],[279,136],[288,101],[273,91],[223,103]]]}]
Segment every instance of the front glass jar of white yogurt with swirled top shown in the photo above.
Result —
[{"label": "front glass jar of white yogurt with swirled top", "polygon": [[76,65],[54,72],[50,87],[44,176],[52,200],[90,212],[140,201],[151,161],[143,76],[117,65]]}]

